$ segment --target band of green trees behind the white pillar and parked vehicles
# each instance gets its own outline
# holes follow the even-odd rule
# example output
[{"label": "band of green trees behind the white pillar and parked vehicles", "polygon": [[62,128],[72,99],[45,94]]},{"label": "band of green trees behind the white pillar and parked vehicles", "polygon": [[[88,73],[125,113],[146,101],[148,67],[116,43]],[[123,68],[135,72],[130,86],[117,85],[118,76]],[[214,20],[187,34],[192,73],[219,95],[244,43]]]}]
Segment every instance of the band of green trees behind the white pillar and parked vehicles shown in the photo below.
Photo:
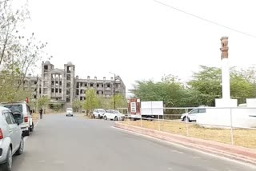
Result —
[{"label": "band of green trees behind the white pillar and parked vehicles", "polygon": [[[254,69],[230,70],[230,95],[238,103],[256,96]],[[222,98],[222,73],[217,67],[200,66],[192,79],[183,85],[178,78],[167,76],[161,82],[137,81],[134,85],[135,97],[141,101],[164,101],[166,107],[215,105],[215,98]]]}]

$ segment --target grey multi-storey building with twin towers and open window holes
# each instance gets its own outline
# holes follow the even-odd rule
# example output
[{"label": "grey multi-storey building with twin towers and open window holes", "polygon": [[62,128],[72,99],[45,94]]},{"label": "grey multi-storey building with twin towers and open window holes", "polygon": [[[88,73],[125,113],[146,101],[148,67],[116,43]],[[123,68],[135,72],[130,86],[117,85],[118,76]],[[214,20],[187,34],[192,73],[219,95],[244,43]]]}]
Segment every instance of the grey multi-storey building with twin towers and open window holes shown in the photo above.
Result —
[{"label": "grey multi-storey building with twin towers and open window holes", "polygon": [[42,62],[42,78],[27,77],[23,82],[24,89],[31,89],[34,98],[48,96],[52,102],[59,102],[66,107],[72,105],[74,99],[86,100],[86,90],[95,89],[98,96],[112,97],[114,94],[122,94],[126,97],[126,85],[118,77],[103,79],[86,79],[75,76],[75,66],[68,62],[64,70],[54,68],[50,62]]}]

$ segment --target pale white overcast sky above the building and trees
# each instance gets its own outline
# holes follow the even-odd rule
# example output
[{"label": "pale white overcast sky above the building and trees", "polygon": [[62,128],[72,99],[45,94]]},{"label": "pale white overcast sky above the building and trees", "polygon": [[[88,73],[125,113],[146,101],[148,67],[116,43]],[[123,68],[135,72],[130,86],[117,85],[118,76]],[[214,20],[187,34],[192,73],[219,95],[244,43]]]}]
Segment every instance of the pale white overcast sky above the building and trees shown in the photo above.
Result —
[{"label": "pale white overcast sky above the building and trees", "polygon": [[[256,35],[254,0],[158,1]],[[154,0],[30,0],[29,9],[26,32],[48,42],[56,68],[72,62],[79,78],[110,78],[112,72],[126,90],[135,80],[173,74],[186,82],[200,65],[220,66],[222,36],[229,37],[230,66],[256,66],[256,36]]]}]

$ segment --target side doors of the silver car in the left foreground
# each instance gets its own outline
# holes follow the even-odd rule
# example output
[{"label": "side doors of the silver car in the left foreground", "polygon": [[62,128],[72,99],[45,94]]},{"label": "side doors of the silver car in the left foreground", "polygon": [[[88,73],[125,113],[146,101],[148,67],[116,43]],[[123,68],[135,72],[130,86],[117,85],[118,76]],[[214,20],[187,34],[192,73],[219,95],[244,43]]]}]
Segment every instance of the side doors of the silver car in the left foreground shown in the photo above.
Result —
[{"label": "side doors of the silver car in the left foreground", "polygon": [[15,151],[16,149],[18,149],[19,146],[19,142],[20,142],[20,135],[19,135],[19,131],[18,131],[18,125],[16,124],[16,121],[14,119],[14,117],[12,116],[12,113],[10,112],[5,112],[4,113],[5,117],[6,117],[6,122],[9,126],[9,135],[10,135],[10,139],[12,141],[13,144],[13,151]]}]

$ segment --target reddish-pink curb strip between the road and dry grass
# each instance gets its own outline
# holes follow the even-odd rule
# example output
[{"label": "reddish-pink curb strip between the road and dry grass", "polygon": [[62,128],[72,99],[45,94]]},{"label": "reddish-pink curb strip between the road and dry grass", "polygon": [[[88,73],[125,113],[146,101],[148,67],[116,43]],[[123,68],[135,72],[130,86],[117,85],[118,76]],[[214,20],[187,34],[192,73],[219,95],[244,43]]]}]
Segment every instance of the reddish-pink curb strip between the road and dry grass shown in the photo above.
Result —
[{"label": "reddish-pink curb strip between the road and dry grass", "polygon": [[171,143],[177,143],[186,147],[193,147],[194,149],[199,149],[206,153],[217,154],[222,157],[228,157],[230,159],[256,165],[255,149],[244,148],[237,145],[228,145],[215,141],[207,141],[194,137],[186,137],[174,133],[166,133],[154,129],[146,129],[134,125],[126,125],[120,122],[115,122],[114,127],[119,129],[126,129],[135,133],[141,133],[146,136],[169,141]]}]

